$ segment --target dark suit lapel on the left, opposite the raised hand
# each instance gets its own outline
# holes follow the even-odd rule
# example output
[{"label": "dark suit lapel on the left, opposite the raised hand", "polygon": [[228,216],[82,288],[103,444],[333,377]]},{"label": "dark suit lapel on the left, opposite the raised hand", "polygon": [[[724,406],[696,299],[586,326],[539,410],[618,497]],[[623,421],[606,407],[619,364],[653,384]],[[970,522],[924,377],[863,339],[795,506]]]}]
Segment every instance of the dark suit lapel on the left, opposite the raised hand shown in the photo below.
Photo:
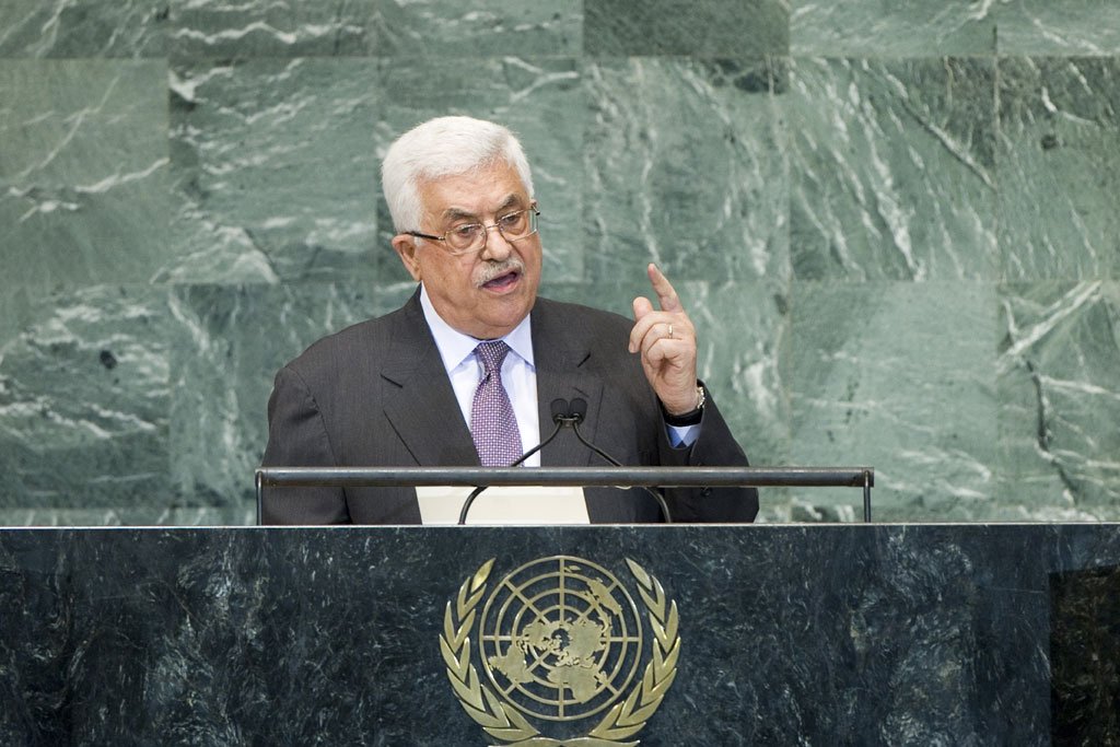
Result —
[{"label": "dark suit lapel on the left, opposite the raised hand", "polygon": [[424,321],[419,291],[403,311],[381,368],[385,417],[421,467],[477,466],[478,452]]}]

